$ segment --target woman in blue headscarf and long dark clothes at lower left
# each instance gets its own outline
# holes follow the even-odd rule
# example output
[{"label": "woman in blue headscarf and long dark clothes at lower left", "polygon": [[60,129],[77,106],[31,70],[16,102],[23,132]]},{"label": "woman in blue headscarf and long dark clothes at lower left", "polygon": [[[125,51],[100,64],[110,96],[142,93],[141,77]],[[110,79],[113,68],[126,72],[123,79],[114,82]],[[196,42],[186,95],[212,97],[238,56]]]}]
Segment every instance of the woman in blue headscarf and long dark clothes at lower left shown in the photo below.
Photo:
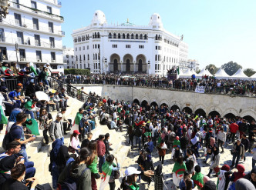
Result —
[{"label": "woman in blue headscarf and long dark clothes at lower left", "polygon": [[52,187],[57,188],[57,182],[59,178],[59,171],[58,165],[56,165],[59,148],[63,145],[61,139],[56,139],[55,142],[52,143],[52,150],[50,152],[50,164],[49,164],[49,172],[51,172],[52,175]]}]

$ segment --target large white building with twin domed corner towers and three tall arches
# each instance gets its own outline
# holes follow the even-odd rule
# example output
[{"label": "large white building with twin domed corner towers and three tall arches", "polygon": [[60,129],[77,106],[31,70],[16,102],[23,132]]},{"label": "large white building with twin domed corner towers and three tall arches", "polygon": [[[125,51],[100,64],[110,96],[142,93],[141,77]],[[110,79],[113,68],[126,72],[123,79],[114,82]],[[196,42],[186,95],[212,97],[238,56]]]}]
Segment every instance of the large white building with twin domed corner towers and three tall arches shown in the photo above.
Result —
[{"label": "large white building with twin domed corner towers and three tall arches", "polygon": [[188,45],[163,28],[160,15],[153,14],[149,25],[128,20],[110,25],[96,11],[89,26],[73,31],[76,68],[91,72],[126,72],[166,75],[167,69],[187,62]]}]

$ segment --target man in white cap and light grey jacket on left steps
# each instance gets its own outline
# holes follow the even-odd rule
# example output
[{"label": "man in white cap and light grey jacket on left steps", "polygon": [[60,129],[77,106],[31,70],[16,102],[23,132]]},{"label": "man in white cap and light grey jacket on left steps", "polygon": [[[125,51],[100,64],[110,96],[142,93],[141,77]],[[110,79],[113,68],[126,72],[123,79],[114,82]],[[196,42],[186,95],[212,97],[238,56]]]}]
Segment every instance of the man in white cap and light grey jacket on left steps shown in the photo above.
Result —
[{"label": "man in white cap and light grey jacket on left steps", "polygon": [[56,121],[52,122],[50,125],[49,135],[54,142],[56,139],[60,139],[64,144],[64,130],[62,123],[62,114],[57,114]]}]

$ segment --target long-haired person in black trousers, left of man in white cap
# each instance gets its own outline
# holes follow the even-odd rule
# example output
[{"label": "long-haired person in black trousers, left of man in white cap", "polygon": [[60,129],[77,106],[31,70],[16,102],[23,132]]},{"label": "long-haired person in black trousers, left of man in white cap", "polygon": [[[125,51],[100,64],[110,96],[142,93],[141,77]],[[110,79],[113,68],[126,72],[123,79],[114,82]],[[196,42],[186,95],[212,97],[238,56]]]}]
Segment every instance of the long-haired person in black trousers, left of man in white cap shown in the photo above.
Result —
[{"label": "long-haired person in black trousers, left of man in white cap", "polygon": [[47,132],[49,132],[49,127],[52,124],[52,115],[46,112],[45,108],[41,108],[39,112],[39,128],[42,129],[43,137],[45,138],[45,144],[49,144],[49,137]]}]

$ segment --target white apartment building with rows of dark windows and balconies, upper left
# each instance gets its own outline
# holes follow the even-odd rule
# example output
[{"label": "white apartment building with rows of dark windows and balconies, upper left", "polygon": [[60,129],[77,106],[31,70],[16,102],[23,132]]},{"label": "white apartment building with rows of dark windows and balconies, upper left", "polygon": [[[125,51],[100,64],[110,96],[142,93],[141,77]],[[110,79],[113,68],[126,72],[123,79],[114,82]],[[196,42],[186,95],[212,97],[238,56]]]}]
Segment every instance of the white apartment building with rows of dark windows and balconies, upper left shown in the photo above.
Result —
[{"label": "white apartment building with rows of dark windows and balconies, upper left", "polygon": [[4,62],[35,65],[50,63],[52,72],[63,72],[64,18],[57,0],[11,0],[9,14],[0,21],[0,48]]}]

